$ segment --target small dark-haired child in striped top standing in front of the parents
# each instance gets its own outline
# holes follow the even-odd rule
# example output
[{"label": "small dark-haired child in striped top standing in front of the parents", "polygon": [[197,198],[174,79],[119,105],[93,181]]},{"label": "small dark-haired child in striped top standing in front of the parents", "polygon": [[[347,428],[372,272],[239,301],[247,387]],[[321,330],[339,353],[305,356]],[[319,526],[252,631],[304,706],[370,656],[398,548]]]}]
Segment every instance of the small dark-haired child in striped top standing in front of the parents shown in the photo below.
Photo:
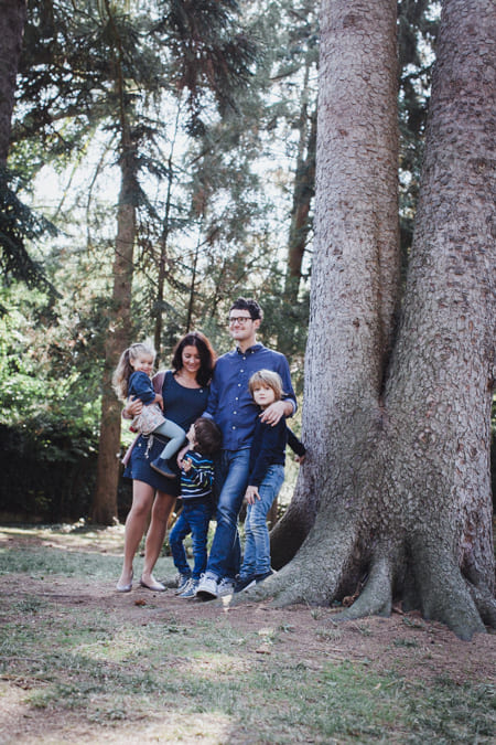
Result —
[{"label": "small dark-haired child in striped top standing in front of the parents", "polygon": [[[213,419],[200,417],[187,432],[188,449],[181,460],[183,509],[169,535],[174,566],[180,573],[176,595],[194,597],[207,563],[207,533],[214,509],[212,485],[214,461],[220,449],[220,430]],[[191,533],[194,566],[191,571],[183,541]]]}]

